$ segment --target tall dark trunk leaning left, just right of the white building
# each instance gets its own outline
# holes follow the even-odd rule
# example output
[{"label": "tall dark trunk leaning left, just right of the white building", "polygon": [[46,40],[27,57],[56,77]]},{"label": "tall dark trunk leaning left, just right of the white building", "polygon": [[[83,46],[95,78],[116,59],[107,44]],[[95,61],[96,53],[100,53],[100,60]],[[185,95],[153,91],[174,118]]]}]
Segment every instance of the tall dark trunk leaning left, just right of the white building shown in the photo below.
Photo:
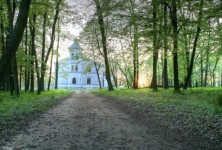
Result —
[{"label": "tall dark trunk leaning left, just right of the white building", "polygon": [[101,36],[102,36],[102,46],[103,46],[103,54],[104,54],[105,69],[106,69],[105,72],[106,72],[106,80],[108,83],[108,90],[113,91],[114,89],[113,89],[113,85],[111,82],[108,52],[107,52],[107,47],[106,47],[107,45],[106,45],[105,25],[104,25],[104,20],[103,20],[103,15],[102,15],[102,9],[101,9],[99,0],[94,0],[94,1],[96,4],[96,12],[97,12],[100,32],[101,32]]}]

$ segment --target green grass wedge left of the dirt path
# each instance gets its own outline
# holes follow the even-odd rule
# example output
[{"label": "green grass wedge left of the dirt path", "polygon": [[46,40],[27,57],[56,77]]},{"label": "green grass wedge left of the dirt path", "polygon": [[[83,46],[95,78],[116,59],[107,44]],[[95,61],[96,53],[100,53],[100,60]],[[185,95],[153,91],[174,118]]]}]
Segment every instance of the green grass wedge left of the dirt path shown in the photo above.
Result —
[{"label": "green grass wedge left of the dirt path", "polygon": [[71,91],[52,90],[39,95],[22,92],[20,97],[0,93],[0,136],[27,121],[32,115],[44,112],[67,97]]}]

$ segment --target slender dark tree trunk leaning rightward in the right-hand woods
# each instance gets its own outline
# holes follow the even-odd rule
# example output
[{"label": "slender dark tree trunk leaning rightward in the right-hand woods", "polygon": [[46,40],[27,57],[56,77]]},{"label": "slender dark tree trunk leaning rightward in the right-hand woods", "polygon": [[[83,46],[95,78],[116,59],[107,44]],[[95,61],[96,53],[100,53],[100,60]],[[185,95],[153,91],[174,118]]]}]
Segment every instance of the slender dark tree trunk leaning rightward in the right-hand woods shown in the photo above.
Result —
[{"label": "slender dark tree trunk leaning rightward in the right-hand woods", "polygon": [[203,0],[200,1],[197,31],[196,31],[196,36],[195,36],[194,43],[193,43],[193,51],[192,51],[192,56],[191,56],[191,61],[190,61],[190,66],[189,66],[189,72],[187,74],[187,78],[186,78],[186,81],[184,84],[184,89],[187,89],[188,83],[191,79],[191,75],[193,72],[193,65],[194,65],[194,59],[195,59],[195,54],[196,54],[197,42],[198,42],[200,31],[201,31],[200,27],[201,27],[201,22],[202,22],[202,11],[203,11]]}]

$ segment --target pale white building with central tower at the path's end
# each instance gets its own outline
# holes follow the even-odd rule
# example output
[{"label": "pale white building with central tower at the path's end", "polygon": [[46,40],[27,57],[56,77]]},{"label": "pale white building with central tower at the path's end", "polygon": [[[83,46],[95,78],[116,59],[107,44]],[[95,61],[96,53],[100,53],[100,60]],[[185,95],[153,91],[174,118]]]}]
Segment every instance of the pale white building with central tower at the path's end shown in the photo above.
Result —
[{"label": "pale white building with central tower at the path's end", "polygon": [[[92,89],[107,87],[103,69],[97,71],[93,61],[82,55],[78,41],[69,47],[69,57],[59,61],[58,87],[68,89]],[[100,82],[99,82],[100,79]]]}]

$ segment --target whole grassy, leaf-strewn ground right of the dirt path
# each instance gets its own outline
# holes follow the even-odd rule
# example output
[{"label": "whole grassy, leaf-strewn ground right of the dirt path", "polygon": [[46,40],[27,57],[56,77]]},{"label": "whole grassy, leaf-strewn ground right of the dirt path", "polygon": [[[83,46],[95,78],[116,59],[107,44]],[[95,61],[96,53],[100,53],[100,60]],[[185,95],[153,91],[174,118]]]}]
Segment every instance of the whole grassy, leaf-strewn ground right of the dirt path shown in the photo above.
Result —
[{"label": "whole grassy, leaf-strewn ground right of the dirt path", "polygon": [[[199,134],[215,143],[222,137],[222,107],[218,105],[218,95],[222,88],[192,88],[174,94],[173,89],[116,89],[93,90],[92,93],[113,96],[120,101],[132,102],[135,109],[142,113],[154,114],[170,128],[186,134]],[[133,109],[132,108],[132,111]]]}]

